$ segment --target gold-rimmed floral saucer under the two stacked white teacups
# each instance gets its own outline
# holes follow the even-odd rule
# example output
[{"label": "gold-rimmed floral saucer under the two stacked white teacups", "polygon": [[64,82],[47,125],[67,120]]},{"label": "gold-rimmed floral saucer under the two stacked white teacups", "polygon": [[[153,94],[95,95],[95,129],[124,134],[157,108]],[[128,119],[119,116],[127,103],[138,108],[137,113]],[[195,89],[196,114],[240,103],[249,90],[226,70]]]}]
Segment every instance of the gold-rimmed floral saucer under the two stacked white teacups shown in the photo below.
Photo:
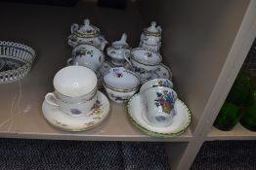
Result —
[{"label": "gold-rimmed floral saucer under the two stacked white teacups", "polygon": [[107,118],[109,102],[105,94],[98,91],[98,100],[93,111],[81,117],[70,117],[63,113],[59,107],[43,102],[42,111],[48,122],[65,131],[82,131],[99,125]]}]

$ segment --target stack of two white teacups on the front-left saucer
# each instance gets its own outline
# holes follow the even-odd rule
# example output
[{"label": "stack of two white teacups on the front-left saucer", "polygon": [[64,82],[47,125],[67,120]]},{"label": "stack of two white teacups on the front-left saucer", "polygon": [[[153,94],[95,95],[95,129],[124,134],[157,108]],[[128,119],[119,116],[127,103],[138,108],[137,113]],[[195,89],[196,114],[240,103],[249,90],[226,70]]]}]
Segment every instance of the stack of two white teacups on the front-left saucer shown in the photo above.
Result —
[{"label": "stack of two white teacups on the front-left saucer", "polygon": [[55,75],[53,82],[55,91],[46,94],[46,102],[60,107],[72,117],[91,111],[97,100],[97,77],[91,69],[84,66],[64,67]]}]

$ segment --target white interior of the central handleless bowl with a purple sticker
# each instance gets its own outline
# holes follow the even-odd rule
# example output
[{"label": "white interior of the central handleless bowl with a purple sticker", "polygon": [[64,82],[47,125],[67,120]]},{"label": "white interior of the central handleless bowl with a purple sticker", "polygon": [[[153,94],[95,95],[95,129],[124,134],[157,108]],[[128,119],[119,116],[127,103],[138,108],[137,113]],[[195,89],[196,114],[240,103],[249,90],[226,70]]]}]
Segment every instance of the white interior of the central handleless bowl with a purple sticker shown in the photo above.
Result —
[{"label": "white interior of the central handleless bowl with a purple sticker", "polygon": [[140,85],[140,78],[129,70],[115,67],[105,75],[104,84],[116,90],[134,90]]}]

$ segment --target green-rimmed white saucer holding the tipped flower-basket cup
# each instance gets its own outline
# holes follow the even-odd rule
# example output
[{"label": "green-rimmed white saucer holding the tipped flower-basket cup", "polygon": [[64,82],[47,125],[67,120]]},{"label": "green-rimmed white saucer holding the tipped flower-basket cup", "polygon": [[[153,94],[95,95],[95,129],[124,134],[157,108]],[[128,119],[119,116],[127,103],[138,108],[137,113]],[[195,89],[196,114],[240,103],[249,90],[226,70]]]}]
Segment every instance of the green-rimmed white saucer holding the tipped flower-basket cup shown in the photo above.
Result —
[{"label": "green-rimmed white saucer holding the tipped flower-basket cup", "polygon": [[147,109],[141,95],[136,94],[128,102],[127,115],[130,121],[146,134],[154,137],[170,138],[184,133],[191,123],[191,112],[180,99],[177,99],[174,107],[177,114],[174,116],[171,125],[167,127],[152,126],[147,119],[143,118]]}]

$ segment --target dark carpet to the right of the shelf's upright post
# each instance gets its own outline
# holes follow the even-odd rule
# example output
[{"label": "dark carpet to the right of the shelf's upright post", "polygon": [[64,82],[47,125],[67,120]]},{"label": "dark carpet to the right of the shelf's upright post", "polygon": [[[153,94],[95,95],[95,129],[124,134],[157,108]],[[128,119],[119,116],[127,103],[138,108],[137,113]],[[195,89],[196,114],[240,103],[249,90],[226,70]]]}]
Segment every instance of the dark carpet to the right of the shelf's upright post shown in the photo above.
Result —
[{"label": "dark carpet to the right of the shelf's upright post", "polygon": [[256,141],[205,142],[191,170],[256,170]]}]

